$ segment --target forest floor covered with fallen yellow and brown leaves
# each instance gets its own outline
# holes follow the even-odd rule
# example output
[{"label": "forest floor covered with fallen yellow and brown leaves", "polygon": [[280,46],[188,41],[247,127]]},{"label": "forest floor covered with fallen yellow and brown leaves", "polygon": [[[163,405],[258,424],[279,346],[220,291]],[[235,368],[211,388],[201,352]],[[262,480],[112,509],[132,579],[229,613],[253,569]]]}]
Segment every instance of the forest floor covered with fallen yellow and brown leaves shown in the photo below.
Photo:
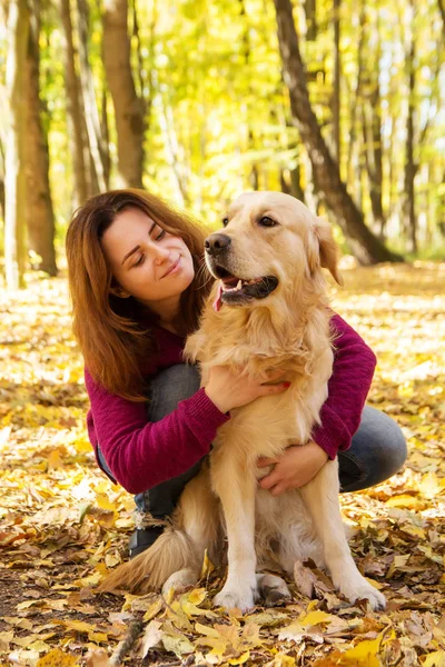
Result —
[{"label": "forest floor covered with fallen yellow and brown leaves", "polygon": [[409,448],[393,479],[340,499],[387,609],[347,605],[314,571],[314,599],[294,586],[287,607],[225,614],[211,607],[224,573],[209,564],[198,588],[168,599],[98,594],[126,558],[134,502],[87,439],[66,280],[29,277],[0,296],[0,667],[106,667],[137,620],[129,665],[445,666],[445,265],[344,277],[333,305],[378,356],[369,402]]}]

